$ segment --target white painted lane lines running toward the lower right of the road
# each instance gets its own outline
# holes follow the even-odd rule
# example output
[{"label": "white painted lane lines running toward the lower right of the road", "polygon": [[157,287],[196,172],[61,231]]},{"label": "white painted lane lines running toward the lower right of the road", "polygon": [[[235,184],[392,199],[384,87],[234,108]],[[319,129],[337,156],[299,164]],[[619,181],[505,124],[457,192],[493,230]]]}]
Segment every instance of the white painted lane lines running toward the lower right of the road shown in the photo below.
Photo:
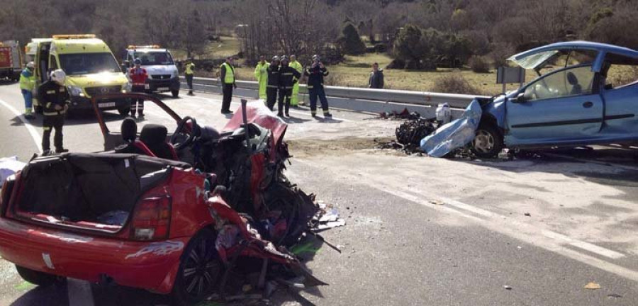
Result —
[{"label": "white painted lane lines running toward the lower right of the road", "polygon": [[[296,159],[296,162],[300,162],[301,164],[305,164],[306,166],[316,167],[316,164],[305,161],[303,159]],[[570,259],[580,261],[581,263],[585,263],[589,266],[614,273],[617,276],[622,276],[630,280],[638,281],[638,271],[619,266],[615,263],[611,263],[609,261],[605,261],[588,254],[583,254],[574,249],[569,249],[569,247],[566,246],[575,246],[579,249],[584,249],[593,254],[605,256],[610,259],[620,259],[622,257],[625,257],[625,254],[622,254],[620,252],[605,249],[601,246],[597,246],[589,242],[583,242],[578,239],[573,239],[571,237],[565,236],[564,234],[552,232],[547,229],[539,229],[534,225],[530,225],[526,222],[510,220],[511,218],[509,217],[499,215],[488,210],[483,210],[481,208],[476,208],[472,205],[461,203],[458,200],[433,195],[431,193],[428,193],[427,198],[425,198],[420,194],[413,194],[409,190],[401,191],[401,188],[397,188],[396,186],[388,186],[385,181],[376,179],[376,177],[373,175],[366,174],[364,172],[360,172],[359,174],[362,174],[365,180],[362,180],[362,176],[352,176],[352,179],[376,190],[382,191],[384,193],[389,193],[393,196],[397,196],[405,200],[409,200],[413,203],[420,204],[427,208],[440,210],[443,212],[452,212],[466,219],[473,220],[474,222],[478,223],[478,225],[486,227],[493,232],[505,234],[506,236],[519,239],[523,242],[539,246],[543,249],[553,251],[556,254],[560,254]],[[431,200],[437,200],[444,203],[444,205],[432,205]]]}]

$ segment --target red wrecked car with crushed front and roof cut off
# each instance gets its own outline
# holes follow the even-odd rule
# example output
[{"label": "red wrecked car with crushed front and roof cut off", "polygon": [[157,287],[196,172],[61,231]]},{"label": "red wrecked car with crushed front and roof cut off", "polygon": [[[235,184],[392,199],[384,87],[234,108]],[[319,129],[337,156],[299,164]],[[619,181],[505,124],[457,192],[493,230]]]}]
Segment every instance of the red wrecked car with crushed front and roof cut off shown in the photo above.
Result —
[{"label": "red wrecked car with crushed front and roof cut off", "polygon": [[177,129],[146,124],[138,133],[128,118],[111,132],[94,100],[105,152],[38,157],[8,179],[0,256],[25,280],[116,283],[188,305],[223,296],[235,259],[247,256],[305,285],[324,284],[286,249],[319,211],[282,174],[286,123],[250,103],[218,132],[153,96],[111,96],[142,96]]}]

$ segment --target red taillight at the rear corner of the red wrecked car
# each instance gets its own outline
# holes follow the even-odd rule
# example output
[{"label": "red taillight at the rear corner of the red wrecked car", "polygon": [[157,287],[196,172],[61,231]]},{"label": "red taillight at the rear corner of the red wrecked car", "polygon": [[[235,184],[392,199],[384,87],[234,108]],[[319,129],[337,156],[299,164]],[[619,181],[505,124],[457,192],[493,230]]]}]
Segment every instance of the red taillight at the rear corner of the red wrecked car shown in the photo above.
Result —
[{"label": "red taillight at the rear corner of the red wrecked car", "polygon": [[166,239],[171,225],[171,198],[145,198],[135,207],[130,227],[135,240]]}]

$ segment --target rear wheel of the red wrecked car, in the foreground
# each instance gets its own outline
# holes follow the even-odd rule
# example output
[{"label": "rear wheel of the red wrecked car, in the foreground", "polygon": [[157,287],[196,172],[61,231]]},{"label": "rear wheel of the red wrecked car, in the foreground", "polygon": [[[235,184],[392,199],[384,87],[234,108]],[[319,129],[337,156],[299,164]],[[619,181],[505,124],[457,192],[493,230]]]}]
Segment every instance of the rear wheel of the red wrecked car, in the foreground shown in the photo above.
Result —
[{"label": "rear wheel of the red wrecked car, in the foreground", "polygon": [[203,229],[186,246],[173,285],[176,305],[201,302],[218,290],[224,264],[215,248],[216,237],[211,229]]}]

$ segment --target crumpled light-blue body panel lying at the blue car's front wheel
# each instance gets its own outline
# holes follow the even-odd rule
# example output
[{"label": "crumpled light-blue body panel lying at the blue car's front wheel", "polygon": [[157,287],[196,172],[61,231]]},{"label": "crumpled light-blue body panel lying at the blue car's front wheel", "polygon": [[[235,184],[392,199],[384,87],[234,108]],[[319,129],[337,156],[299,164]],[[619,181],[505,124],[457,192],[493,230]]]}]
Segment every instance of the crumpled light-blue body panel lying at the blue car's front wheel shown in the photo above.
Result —
[{"label": "crumpled light-blue body panel lying at the blue car's front wheel", "polygon": [[452,150],[469,144],[476,135],[481,113],[481,105],[475,99],[467,106],[461,118],[424,137],[421,140],[421,150],[431,157],[444,157]]}]

